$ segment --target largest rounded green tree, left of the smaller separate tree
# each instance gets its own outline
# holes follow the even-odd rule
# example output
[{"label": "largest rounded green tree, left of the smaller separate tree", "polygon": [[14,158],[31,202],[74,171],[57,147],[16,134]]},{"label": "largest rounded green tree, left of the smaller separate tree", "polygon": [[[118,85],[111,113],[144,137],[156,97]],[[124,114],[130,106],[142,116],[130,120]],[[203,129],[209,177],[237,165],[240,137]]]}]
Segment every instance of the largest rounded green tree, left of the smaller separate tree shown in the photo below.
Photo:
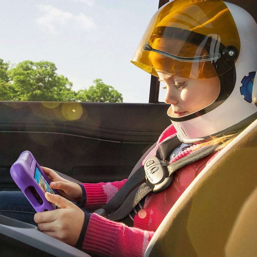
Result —
[{"label": "largest rounded green tree, left of the smaller separate tree", "polygon": [[[56,73],[48,61],[23,61],[9,71],[9,92],[12,101],[75,101],[72,83]],[[2,93],[2,92],[0,92]],[[1,100],[3,94],[0,94]]]}]

